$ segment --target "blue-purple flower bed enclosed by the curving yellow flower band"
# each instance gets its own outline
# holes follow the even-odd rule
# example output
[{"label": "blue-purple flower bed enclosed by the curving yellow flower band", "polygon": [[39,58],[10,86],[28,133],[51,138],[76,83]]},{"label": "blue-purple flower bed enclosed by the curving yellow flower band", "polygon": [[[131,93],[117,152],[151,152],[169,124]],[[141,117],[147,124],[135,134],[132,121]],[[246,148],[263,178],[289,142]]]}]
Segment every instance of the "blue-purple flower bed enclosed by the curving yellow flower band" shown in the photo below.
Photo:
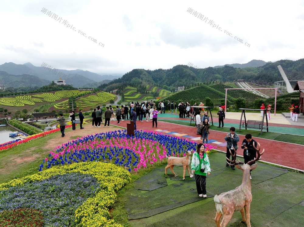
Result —
[{"label": "blue-purple flower bed enclosed by the curving yellow flower band", "polygon": [[68,173],[0,191],[0,212],[17,208],[43,211],[45,226],[76,226],[75,210],[99,189],[88,174]]}]

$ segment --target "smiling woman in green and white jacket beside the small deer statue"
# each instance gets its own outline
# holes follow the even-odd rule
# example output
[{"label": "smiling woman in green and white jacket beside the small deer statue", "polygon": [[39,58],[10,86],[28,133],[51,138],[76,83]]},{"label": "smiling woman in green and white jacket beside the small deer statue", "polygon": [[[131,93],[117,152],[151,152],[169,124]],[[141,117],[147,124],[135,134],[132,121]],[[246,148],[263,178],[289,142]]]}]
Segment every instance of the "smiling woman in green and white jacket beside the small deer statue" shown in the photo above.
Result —
[{"label": "smiling woman in green and white jacket beside the small deer statue", "polygon": [[205,146],[200,143],[192,156],[191,161],[192,174],[196,182],[196,190],[200,197],[206,198],[206,175],[210,175],[210,163],[208,155],[205,152]]}]

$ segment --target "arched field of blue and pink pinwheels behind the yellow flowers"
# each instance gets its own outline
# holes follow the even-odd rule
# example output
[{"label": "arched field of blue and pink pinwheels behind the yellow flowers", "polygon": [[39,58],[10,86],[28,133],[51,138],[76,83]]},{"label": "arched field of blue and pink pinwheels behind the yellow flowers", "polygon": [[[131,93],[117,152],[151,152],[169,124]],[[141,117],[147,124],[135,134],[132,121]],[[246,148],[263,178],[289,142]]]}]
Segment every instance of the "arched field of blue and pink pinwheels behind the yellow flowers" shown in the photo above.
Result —
[{"label": "arched field of blue and pink pinwheels behind the yellow flowers", "polygon": [[[187,150],[196,147],[195,142],[179,139],[155,132],[135,131],[134,137],[126,130],[87,135],[72,140],[50,151],[39,170],[56,165],[73,164],[87,161],[111,162],[129,172],[146,168],[166,157],[185,156]],[[208,145],[207,151],[215,147]]]}]

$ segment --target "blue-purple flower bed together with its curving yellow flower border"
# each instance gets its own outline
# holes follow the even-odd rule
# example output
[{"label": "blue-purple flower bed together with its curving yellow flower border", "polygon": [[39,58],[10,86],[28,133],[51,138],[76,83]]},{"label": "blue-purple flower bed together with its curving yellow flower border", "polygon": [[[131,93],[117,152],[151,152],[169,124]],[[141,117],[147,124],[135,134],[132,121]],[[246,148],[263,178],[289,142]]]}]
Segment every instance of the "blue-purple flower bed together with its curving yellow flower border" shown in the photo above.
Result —
[{"label": "blue-purple flower bed together with its curving yellow flower border", "polygon": [[[0,211],[20,207],[41,210],[46,227],[119,227],[109,218],[109,209],[116,192],[129,181],[128,171],[110,163],[54,167],[1,184]],[[0,219],[0,223],[4,221]]]}]

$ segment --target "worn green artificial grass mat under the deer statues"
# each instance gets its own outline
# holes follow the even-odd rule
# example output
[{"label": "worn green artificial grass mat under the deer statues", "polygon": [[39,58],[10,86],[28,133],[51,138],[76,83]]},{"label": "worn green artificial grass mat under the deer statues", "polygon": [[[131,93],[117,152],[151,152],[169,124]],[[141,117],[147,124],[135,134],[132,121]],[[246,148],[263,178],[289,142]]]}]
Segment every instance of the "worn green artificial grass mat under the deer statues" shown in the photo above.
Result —
[{"label": "worn green artificial grass mat under the deer statues", "polygon": [[[134,227],[216,226],[213,196],[240,185],[242,171],[226,167],[225,154],[209,154],[209,160],[214,170],[207,176],[208,198],[206,199],[197,195],[195,180],[189,177],[185,181],[172,181],[167,178],[168,186],[152,191],[136,189],[126,191],[126,210],[129,213],[130,225]],[[156,168],[148,175],[155,178],[163,177],[164,166]],[[167,173],[170,172],[169,170]],[[182,175],[182,168],[174,167],[174,172]],[[258,163],[251,175],[252,226],[303,226],[303,174]],[[247,226],[241,223],[241,220],[241,214],[237,211],[227,226]]]}]

